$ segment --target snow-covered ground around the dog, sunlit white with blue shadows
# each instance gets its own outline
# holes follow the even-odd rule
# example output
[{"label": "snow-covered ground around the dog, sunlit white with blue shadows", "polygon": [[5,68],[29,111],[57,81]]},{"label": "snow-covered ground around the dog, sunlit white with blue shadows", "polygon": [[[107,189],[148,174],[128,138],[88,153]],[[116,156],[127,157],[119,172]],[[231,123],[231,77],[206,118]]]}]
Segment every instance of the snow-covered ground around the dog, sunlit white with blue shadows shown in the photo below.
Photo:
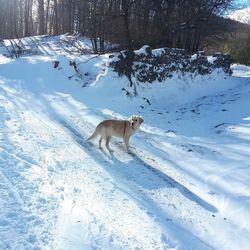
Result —
[{"label": "snow-covered ground around the dog, sunlit white with blue shadows", "polygon": [[[39,44],[0,56],[0,249],[249,249],[249,67],[128,98],[108,55]],[[130,154],[86,142],[131,114],[145,122]]]}]

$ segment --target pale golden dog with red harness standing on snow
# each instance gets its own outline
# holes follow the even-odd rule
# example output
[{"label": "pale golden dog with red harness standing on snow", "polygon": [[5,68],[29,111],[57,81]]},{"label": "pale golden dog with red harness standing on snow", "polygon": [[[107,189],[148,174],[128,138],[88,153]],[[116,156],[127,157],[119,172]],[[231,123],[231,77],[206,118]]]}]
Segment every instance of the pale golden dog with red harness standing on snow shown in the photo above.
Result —
[{"label": "pale golden dog with red harness standing on snow", "polygon": [[129,139],[140,128],[144,122],[141,116],[132,115],[128,120],[104,120],[100,122],[94,133],[87,139],[90,141],[100,136],[99,148],[102,148],[102,140],[106,141],[106,148],[113,152],[109,147],[109,142],[112,136],[123,139],[126,152],[129,151]]}]

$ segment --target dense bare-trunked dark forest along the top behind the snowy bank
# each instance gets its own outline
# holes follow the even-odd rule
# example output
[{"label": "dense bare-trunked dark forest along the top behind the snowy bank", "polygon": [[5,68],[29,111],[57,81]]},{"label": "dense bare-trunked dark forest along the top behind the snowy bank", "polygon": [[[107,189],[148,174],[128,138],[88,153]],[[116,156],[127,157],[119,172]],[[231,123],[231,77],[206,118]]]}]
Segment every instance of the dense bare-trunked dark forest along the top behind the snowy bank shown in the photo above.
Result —
[{"label": "dense bare-trunked dark forest along the top behind the snowy bank", "polygon": [[[93,50],[104,42],[122,48],[178,47],[202,50],[232,29],[222,18],[234,0],[0,0],[0,37],[80,33]],[[230,27],[229,27],[230,26]]]}]

